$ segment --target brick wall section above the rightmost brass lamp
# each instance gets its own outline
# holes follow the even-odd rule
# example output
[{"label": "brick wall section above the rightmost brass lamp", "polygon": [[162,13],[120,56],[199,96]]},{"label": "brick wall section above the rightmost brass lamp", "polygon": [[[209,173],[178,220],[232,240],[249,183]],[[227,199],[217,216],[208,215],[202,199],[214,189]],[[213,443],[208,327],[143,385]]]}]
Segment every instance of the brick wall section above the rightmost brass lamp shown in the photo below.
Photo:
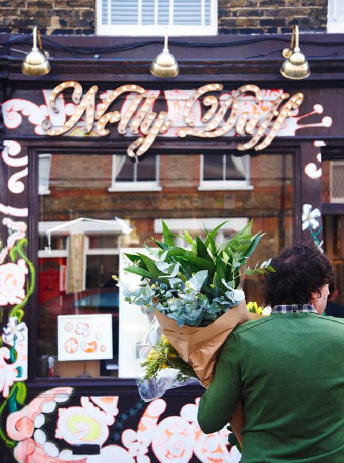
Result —
[{"label": "brick wall section above the rightmost brass lamp", "polygon": [[218,0],[219,34],[326,31],[327,0]]}]

